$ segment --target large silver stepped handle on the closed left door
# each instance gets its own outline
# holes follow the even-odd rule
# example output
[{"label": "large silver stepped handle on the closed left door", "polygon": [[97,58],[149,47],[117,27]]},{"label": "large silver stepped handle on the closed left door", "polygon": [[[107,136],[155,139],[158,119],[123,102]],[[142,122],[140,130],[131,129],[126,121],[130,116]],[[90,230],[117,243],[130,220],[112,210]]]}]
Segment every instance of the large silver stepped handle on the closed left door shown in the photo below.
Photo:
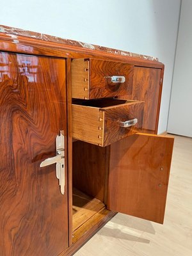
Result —
[{"label": "large silver stepped handle on the closed left door", "polygon": [[65,141],[64,132],[56,137],[56,156],[49,157],[42,161],[40,167],[56,164],[56,177],[59,180],[61,194],[65,193]]}]

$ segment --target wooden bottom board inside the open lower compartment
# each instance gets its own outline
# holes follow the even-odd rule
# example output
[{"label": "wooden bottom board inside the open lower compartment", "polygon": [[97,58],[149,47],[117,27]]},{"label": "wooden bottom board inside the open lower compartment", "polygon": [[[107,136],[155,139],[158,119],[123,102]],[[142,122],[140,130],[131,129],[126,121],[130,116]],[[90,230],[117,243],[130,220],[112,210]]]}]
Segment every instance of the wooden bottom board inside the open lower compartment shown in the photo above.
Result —
[{"label": "wooden bottom board inside the open lower compartment", "polygon": [[73,233],[104,208],[104,203],[97,198],[73,188]]}]

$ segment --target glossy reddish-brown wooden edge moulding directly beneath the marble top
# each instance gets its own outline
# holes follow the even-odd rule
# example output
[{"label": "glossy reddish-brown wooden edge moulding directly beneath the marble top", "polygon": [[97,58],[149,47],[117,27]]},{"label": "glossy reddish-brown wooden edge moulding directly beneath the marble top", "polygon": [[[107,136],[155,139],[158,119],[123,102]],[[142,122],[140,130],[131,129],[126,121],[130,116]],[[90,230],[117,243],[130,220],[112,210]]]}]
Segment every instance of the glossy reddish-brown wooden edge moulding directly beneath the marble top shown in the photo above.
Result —
[{"label": "glossy reddish-brown wooden edge moulding directly beneath the marble top", "polygon": [[159,61],[140,59],[134,56],[122,56],[114,52],[100,52],[75,45],[61,44],[60,42],[46,42],[27,36],[18,35],[17,42],[15,42],[15,36],[5,33],[0,33],[0,50],[61,58],[99,58],[102,60],[122,61],[143,67],[162,68],[164,66]]}]

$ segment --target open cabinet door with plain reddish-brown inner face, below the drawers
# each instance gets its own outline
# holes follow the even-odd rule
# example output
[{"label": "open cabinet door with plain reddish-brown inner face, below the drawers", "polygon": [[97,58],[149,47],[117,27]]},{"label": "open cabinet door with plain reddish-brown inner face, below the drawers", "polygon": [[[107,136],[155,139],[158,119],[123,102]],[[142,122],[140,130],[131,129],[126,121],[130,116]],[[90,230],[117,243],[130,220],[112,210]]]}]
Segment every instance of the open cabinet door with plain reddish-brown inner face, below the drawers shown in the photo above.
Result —
[{"label": "open cabinet door with plain reddish-brown inner face, below the drawers", "polygon": [[109,210],[163,223],[173,140],[135,134],[111,145]]}]

